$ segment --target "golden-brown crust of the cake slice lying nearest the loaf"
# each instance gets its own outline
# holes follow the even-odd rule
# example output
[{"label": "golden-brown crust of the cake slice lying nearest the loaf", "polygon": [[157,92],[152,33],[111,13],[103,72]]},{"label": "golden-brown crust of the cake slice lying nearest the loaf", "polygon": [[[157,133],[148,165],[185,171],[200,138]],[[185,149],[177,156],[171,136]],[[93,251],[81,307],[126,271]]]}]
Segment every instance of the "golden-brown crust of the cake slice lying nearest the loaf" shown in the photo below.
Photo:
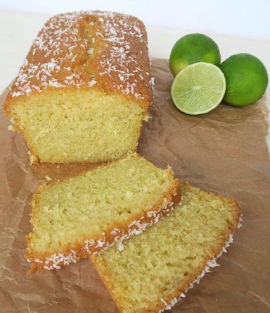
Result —
[{"label": "golden-brown crust of the cake slice lying nearest the loaf", "polygon": [[[134,155],[136,157],[141,157],[136,153]],[[122,158],[124,158],[124,156]],[[110,163],[114,162],[115,161]],[[108,166],[108,164],[101,164],[98,167],[101,166]],[[75,176],[81,176],[86,171],[82,171]],[[75,176],[62,178],[58,181],[66,180]],[[32,213],[37,210],[36,202],[42,188],[44,188],[45,185],[51,185],[53,183],[55,183],[55,181],[40,185],[39,188],[37,188],[37,191],[34,192],[32,198]],[[30,263],[30,273],[44,269],[60,269],[60,267],[76,263],[79,259],[89,257],[91,254],[98,254],[101,251],[108,249],[108,247],[111,247],[115,243],[127,240],[131,235],[140,233],[141,231],[144,231],[146,227],[158,223],[160,219],[169,215],[170,211],[172,211],[172,209],[174,209],[174,207],[180,202],[180,180],[175,178],[169,190],[162,195],[160,200],[153,206],[152,209],[148,209],[148,211],[136,216],[134,219],[130,219],[125,223],[120,223],[119,225],[108,229],[108,231],[99,234],[96,238],[85,238],[82,242],[72,245],[72,247],[65,248],[65,250],[59,251],[58,254],[53,255],[33,253],[30,248],[27,247],[25,258],[27,259],[27,262]],[[30,240],[29,235],[26,236],[25,240],[28,246],[28,242]]]}]

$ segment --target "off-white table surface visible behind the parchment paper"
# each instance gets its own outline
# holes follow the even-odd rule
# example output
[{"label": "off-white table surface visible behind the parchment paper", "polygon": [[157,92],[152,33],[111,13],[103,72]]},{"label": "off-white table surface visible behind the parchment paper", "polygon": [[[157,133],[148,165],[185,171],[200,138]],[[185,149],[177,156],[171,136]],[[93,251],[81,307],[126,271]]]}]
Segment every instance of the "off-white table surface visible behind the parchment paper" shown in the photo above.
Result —
[{"label": "off-white table surface visible behind the parchment paper", "polygon": [[[0,91],[4,90],[15,77],[34,37],[49,15],[0,10]],[[148,31],[149,54],[156,58],[168,59],[172,46],[179,37],[191,31],[174,28],[151,27]],[[224,60],[240,52],[254,54],[262,60],[270,78],[270,39],[244,39],[206,33],[219,45]],[[270,84],[269,84],[270,85]],[[270,87],[267,89],[266,104],[270,109]],[[267,136],[270,147],[270,136]]]}]

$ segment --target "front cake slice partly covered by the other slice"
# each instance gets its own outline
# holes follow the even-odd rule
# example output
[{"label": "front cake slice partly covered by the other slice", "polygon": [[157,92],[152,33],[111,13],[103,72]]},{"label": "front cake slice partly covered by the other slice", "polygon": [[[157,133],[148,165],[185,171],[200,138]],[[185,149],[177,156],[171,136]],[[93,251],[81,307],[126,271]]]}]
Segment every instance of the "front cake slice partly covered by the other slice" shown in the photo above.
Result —
[{"label": "front cake slice partly covered by the other slice", "polygon": [[181,185],[183,204],[141,235],[92,256],[121,312],[171,309],[216,266],[232,242],[240,207],[225,197]]}]

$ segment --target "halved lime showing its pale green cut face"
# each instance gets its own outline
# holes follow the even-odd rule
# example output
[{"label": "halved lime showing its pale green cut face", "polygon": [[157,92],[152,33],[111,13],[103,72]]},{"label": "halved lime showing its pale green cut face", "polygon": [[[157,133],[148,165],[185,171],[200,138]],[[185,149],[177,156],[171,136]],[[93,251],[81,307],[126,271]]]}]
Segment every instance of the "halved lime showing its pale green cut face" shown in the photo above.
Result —
[{"label": "halved lime showing its pale green cut face", "polygon": [[224,97],[226,80],[211,63],[198,62],[181,70],[172,83],[172,99],[187,114],[203,114],[217,107]]}]

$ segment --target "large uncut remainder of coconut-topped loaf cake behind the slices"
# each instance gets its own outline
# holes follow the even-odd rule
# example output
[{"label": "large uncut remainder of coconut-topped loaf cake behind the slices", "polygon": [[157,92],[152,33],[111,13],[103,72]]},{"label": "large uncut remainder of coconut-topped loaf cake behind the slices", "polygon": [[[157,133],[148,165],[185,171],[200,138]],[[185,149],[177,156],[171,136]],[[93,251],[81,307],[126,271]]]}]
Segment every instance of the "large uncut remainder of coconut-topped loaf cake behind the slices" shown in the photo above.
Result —
[{"label": "large uncut remainder of coconut-topped loaf cake behind the slices", "polygon": [[136,151],[152,82],[141,20],[60,14],[34,40],[4,108],[32,163],[109,161]]}]

